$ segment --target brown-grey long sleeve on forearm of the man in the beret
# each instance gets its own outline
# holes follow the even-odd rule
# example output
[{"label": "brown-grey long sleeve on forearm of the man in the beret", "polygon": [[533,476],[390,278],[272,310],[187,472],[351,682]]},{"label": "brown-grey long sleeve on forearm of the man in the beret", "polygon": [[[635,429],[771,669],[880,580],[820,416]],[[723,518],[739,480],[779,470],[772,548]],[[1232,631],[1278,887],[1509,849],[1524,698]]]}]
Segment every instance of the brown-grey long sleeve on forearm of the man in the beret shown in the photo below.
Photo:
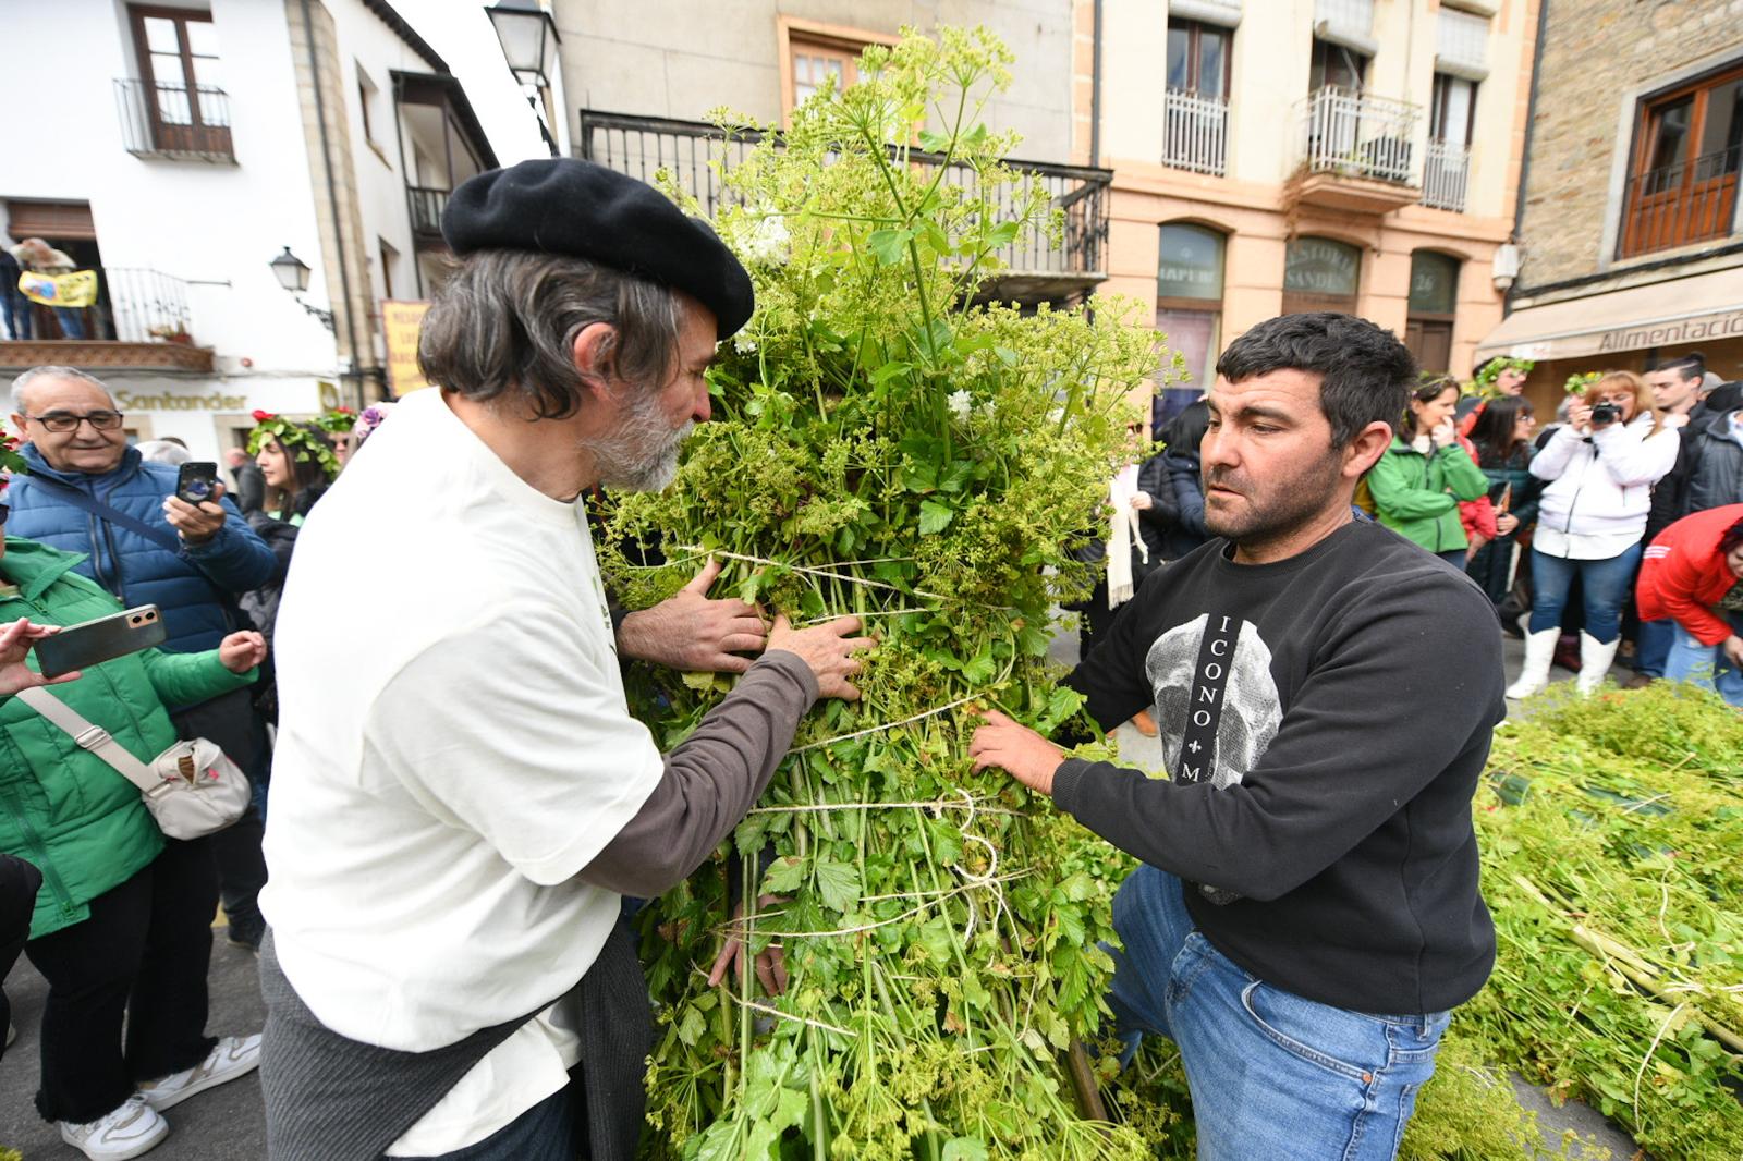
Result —
[{"label": "brown-grey long sleeve on forearm of the man in the beret", "polygon": [[654,793],[582,868],[582,882],[643,900],[682,882],[762,795],[816,699],[810,666],[784,650],[763,654],[666,755]]}]

